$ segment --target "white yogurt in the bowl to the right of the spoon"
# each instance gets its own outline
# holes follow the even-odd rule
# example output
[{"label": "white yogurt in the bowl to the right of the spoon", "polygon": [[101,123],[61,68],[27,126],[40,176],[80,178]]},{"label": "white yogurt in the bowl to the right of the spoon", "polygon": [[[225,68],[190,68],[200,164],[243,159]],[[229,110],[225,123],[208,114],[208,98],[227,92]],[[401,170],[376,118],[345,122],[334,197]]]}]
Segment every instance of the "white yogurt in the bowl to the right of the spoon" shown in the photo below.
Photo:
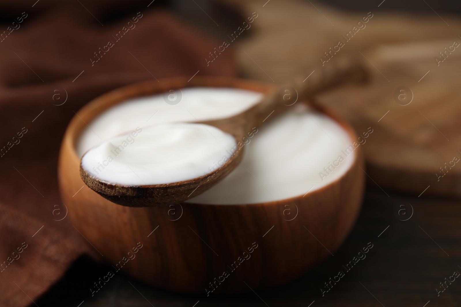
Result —
[{"label": "white yogurt in the bowl to the right of the spoon", "polygon": [[330,117],[290,110],[254,134],[231,174],[188,202],[245,204],[303,196],[347,172],[355,160],[351,144],[349,134]]}]

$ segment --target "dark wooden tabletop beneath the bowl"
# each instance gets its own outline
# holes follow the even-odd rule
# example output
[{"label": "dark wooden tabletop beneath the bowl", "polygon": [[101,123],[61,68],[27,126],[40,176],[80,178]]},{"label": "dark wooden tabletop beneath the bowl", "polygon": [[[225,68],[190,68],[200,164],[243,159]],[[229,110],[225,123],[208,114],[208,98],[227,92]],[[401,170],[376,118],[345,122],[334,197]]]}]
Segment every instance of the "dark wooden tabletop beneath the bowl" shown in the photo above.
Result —
[{"label": "dark wooden tabletop beneath the bowl", "polygon": [[[81,307],[460,306],[461,278],[447,281],[455,271],[461,272],[459,199],[386,191],[388,197],[373,185],[368,184],[361,214],[342,247],[289,284],[245,295],[206,297],[156,289],[120,274],[91,297],[90,284],[108,267],[80,258],[36,303],[40,307],[77,307],[82,302]],[[373,247],[366,258],[347,271],[343,266],[369,242]],[[338,271],[344,276],[322,296],[320,288],[327,290],[324,283]],[[437,293],[443,290],[441,282],[448,287]]]}]

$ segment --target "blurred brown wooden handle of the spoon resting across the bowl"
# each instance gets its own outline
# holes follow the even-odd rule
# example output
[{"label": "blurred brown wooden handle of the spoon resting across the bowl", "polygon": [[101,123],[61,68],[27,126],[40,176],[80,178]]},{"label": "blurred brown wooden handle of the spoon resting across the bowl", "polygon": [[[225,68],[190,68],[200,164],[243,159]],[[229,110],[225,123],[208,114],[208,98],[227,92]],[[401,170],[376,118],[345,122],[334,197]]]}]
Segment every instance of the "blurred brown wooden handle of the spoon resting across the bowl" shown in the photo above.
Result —
[{"label": "blurred brown wooden handle of the spoon resting across the bowl", "polygon": [[[355,59],[343,59],[334,65],[314,71],[306,79],[288,82],[284,87],[266,95],[259,104],[245,114],[247,129],[268,117],[275,118],[297,101],[306,100],[315,94],[350,83],[365,83],[369,74],[365,66]],[[268,121],[267,121],[268,122]]]}]

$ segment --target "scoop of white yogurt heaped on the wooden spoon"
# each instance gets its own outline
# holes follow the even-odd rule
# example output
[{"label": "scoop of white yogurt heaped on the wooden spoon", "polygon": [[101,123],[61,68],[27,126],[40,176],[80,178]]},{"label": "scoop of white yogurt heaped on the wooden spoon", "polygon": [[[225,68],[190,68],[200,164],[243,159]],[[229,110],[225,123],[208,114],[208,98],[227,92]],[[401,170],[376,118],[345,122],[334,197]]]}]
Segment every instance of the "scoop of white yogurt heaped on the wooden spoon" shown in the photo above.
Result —
[{"label": "scoop of white yogurt heaped on the wooden spoon", "polygon": [[110,184],[172,183],[211,173],[213,164],[227,159],[227,151],[235,145],[231,134],[209,125],[165,123],[137,127],[130,134],[91,148],[82,158],[82,167]]}]

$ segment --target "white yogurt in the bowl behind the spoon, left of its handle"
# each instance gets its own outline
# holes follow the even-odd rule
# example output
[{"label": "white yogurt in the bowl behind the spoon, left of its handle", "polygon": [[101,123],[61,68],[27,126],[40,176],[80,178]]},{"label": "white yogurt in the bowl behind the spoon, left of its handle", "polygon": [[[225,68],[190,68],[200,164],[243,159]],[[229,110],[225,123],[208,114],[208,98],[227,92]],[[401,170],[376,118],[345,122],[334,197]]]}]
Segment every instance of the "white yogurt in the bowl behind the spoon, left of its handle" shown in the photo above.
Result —
[{"label": "white yogurt in the bowl behind the spoon, left of its handle", "polygon": [[[147,127],[164,122],[203,122],[226,118],[248,110],[262,98],[261,93],[236,88],[189,87],[171,93],[175,105],[167,104],[164,95],[127,100],[95,118],[77,141],[79,156],[102,140],[136,127]],[[174,96],[176,95],[176,96]],[[180,97],[182,96],[182,97]]]}]

